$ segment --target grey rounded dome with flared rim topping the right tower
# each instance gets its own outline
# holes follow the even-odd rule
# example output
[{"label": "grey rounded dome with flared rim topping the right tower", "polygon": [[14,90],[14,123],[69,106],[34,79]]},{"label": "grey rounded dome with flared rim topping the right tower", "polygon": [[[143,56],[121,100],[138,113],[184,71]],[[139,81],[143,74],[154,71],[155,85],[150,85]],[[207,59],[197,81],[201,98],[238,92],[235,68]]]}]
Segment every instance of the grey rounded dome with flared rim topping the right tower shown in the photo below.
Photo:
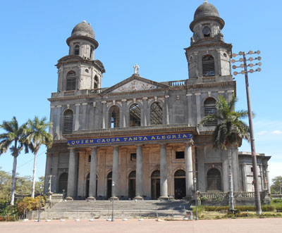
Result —
[{"label": "grey rounded dome with flared rim topping the right tower", "polygon": [[209,4],[207,1],[197,8],[194,14],[194,20],[190,24],[190,30],[193,32],[194,26],[202,20],[215,20],[219,23],[221,29],[224,26],[224,20],[219,17],[219,11],[212,4]]}]

